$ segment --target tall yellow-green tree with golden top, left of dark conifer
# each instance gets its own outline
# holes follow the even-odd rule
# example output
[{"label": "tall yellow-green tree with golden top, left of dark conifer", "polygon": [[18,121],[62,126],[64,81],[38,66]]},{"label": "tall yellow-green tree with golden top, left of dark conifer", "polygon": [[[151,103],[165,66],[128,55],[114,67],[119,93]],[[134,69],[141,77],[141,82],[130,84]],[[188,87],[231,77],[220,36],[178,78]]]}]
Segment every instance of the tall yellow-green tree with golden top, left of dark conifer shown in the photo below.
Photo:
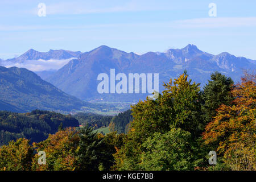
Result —
[{"label": "tall yellow-green tree with golden top, left of dark conifer", "polygon": [[[163,91],[163,102],[171,104],[171,125],[189,131],[193,137],[199,137],[203,131],[203,121],[201,119],[201,93],[200,84],[188,80],[185,71],[179,78],[164,84],[166,90]],[[165,103],[164,103],[165,104]]]}]

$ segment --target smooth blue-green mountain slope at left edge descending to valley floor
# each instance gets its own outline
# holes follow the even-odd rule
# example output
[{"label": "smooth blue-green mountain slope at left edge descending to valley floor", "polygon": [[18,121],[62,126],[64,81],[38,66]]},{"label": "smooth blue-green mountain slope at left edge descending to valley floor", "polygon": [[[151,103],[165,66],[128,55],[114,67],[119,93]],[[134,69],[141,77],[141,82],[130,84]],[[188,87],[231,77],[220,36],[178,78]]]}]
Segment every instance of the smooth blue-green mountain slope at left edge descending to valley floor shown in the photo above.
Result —
[{"label": "smooth blue-green mountain slope at left edge descending to valley floor", "polygon": [[[18,110],[70,111],[90,104],[69,96],[24,68],[0,67],[0,100]],[[2,110],[13,110],[11,107]]]}]

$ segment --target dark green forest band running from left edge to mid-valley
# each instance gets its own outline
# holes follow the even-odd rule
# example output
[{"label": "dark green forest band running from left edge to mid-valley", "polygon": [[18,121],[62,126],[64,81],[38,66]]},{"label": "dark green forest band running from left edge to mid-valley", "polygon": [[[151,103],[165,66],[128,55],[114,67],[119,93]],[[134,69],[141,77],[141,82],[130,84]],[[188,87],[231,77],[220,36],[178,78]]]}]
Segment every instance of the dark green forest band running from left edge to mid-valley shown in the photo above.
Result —
[{"label": "dark green forest band running from left edge to mid-valley", "polygon": [[31,113],[0,111],[0,146],[18,138],[27,138],[31,142],[40,142],[45,140],[49,134],[56,133],[59,127],[88,125],[96,130],[101,127],[112,126],[112,131],[127,133],[127,124],[131,121],[131,110],[120,113],[115,117],[94,113],[67,115],[43,110],[34,110]]}]

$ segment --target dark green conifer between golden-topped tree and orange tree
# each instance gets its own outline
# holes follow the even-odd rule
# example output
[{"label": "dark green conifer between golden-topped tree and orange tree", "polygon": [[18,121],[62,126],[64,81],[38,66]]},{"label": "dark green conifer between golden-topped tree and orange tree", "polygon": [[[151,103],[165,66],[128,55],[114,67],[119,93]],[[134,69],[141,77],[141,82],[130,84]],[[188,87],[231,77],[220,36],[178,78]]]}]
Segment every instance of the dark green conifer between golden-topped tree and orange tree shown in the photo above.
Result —
[{"label": "dark green conifer between golden-topped tree and orange tree", "polygon": [[230,105],[233,96],[231,90],[233,88],[233,80],[230,77],[215,72],[210,76],[208,84],[204,87],[203,100],[204,105],[202,111],[205,124],[212,121],[212,117],[217,114],[217,109],[221,104]]}]

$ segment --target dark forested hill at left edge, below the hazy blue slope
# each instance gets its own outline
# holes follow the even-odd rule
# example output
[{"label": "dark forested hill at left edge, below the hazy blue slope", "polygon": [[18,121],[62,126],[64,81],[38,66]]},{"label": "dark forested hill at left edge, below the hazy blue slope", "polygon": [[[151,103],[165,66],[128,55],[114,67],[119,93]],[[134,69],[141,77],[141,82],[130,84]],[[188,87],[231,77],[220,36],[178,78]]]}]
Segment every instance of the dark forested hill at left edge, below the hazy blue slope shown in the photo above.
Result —
[{"label": "dark forested hill at left edge, below the hazy blue slope", "polygon": [[47,139],[59,127],[78,127],[79,122],[71,115],[63,115],[50,111],[34,110],[31,113],[12,113],[0,111],[0,146],[10,140],[27,138],[32,142]]}]

